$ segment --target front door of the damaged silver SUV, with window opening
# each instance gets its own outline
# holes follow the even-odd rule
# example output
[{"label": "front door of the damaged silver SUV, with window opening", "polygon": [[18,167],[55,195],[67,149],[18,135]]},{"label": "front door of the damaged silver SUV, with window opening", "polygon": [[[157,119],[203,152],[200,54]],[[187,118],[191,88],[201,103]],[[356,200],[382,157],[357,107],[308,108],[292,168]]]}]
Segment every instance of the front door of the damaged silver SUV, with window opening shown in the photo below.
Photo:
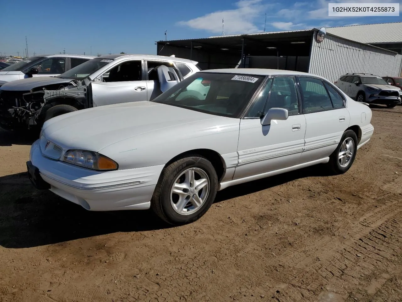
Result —
[{"label": "front door of the damaged silver SUV, with window opening", "polygon": [[93,106],[146,101],[147,88],[142,60],[124,60],[91,82]]}]

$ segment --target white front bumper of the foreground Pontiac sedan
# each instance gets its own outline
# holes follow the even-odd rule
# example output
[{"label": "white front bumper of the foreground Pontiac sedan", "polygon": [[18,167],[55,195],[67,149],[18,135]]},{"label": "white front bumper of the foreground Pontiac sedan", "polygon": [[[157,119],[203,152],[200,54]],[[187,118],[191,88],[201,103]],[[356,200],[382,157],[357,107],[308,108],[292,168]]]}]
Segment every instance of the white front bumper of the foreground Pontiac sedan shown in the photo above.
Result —
[{"label": "white front bumper of the foreground Pontiac sedan", "polygon": [[149,209],[164,165],[99,172],[44,157],[39,140],[27,162],[30,180],[90,211]]}]

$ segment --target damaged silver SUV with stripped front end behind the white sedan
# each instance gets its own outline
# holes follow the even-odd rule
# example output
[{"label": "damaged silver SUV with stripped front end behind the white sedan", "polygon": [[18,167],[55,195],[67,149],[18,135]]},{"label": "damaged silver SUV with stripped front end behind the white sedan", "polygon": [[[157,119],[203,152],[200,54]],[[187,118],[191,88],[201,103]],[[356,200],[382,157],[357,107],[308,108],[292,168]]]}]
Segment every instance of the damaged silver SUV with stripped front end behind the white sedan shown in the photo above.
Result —
[{"label": "damaged silver SUV with stripped front end behind the white sedan", "polygon": [[0,87],[0,127],[41,128],[50,118],[80,109],[150,101],[199,71],[197,63],[172,56],[117,54],[88,60],[57,77],[12,81]]}]

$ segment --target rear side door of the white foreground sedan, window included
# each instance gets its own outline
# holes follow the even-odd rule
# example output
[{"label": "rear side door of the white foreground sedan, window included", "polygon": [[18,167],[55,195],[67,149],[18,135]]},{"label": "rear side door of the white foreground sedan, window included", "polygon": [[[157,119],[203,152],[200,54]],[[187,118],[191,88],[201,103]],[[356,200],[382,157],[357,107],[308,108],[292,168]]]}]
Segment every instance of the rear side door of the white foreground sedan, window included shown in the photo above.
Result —
[{"label": "rear side door of the white foreground sedan, window included", "polygon": [[349,127],[346,100],[328,81],[315,77],[297,77],[301,92],[306,135],[301,161],[328,157]]}]

